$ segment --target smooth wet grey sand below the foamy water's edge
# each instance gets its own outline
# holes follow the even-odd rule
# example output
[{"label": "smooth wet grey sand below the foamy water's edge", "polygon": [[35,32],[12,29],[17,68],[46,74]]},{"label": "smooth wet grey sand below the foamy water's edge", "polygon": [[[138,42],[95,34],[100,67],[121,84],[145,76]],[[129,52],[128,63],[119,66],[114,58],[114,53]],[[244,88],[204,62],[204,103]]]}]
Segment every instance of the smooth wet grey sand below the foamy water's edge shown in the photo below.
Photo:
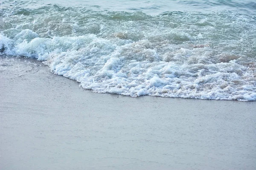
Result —
[{"label": "smooth wet grey sand below the foamy water's edge", "polygon": [[0,57],[1,170],[256,169],[256,102],[95,94]]}]

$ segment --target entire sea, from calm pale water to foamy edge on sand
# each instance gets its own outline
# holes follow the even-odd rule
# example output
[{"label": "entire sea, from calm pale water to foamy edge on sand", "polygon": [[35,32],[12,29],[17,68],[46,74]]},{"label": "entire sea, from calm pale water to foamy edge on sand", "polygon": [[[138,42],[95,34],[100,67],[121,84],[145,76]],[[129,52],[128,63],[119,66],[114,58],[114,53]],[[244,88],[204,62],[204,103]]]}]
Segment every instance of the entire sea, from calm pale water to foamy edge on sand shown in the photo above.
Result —
[{"label": "entire sea, from calm pale water to foamy edge on sand", "polygon": [[3,0],[0,54],[96,93],[256,101],[256,2]]}]

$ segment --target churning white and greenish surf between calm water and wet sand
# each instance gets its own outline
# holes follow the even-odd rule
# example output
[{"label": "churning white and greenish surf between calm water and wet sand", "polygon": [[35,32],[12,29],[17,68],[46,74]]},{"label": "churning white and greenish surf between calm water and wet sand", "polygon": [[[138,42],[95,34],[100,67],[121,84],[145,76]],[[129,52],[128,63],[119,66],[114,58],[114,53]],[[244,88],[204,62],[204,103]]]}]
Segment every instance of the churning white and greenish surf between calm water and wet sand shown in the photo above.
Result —
[{"label": "churning white and greenish surf between calm water and wet sand", "polygon": [[241,23],[226,26],[236,32],[229,39],[225,31],[219,32],[225,22],[216,25],[213,15],[202,20],[197,17],[201,14],[153,17],[142,12],[52,10],[42,21],[13,15],[15,28],[0,34],[3,54],[44,61],[53,73],[97,93],[256,100],[256,41],[251,30],[240,35]]}]

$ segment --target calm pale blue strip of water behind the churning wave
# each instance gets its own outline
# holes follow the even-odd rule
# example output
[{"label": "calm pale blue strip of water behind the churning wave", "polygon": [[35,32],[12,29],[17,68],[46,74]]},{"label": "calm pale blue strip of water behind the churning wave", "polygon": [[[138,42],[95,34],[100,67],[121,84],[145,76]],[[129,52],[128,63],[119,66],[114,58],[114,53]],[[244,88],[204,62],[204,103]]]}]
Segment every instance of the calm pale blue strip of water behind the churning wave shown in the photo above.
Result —
[{"label": "calm pale blue strip of water behind the churning wave", "polygon": [[108,11],[143,11],[146,14],[161,14],[166,11],[217,12],[233,11],[241,14],[256,14],[256,2],[252,0],[4,0],[1,6],[38,8],[50,4],[65,7],[88,7]]}]

